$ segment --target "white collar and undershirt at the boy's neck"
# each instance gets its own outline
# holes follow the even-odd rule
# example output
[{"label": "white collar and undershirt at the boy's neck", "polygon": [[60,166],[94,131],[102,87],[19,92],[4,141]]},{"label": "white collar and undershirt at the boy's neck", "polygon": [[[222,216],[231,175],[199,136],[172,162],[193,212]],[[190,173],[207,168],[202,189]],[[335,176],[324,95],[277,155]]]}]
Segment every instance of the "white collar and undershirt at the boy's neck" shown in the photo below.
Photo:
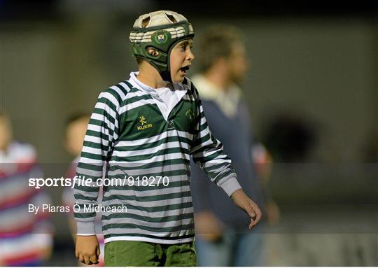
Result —
[{"label": "white collar and undershirt at the boy's neck", "polygon": [[160,87],[155,89],[141,83],[141,81],[137,78],[138,73],[139,72],[130,73],[130,83],[132,83],[134,87],[144,90],[144,92],[150,94],[155,100],[155,104],[158,106],[165,120],[168,120],[168,116],[174,109],[174,106],[176,106],[176,104],[178,104],[186,94],[186,89],[184,89],[181,84],[176,83],[170,84],[173,85],[173,88]]}]

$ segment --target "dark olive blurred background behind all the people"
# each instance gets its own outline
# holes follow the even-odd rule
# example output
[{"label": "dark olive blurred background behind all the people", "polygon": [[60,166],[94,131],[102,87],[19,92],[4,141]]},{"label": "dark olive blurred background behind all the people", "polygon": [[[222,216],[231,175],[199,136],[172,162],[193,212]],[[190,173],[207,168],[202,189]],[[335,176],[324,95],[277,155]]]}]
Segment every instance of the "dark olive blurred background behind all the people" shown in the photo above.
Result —
[{"label": "dark olive blurred background behind all the people", "polygon": [[[160,9],[182,13],[197,33],[222,22],[245,34],[242,89],[281,207],[270,264],[378,265],[378,1],[0,1],[1,110],[47,175],[71,161],[66,118],[92,111],[99,92],[137,69],[130,29]],[[57,203],[61,191],[50,189]],[[76,265],[65,219],[54,217],[50,265]],[[345,248],[350,241],[359,246]],[[342,249],[328,258],[324,244]]]}]

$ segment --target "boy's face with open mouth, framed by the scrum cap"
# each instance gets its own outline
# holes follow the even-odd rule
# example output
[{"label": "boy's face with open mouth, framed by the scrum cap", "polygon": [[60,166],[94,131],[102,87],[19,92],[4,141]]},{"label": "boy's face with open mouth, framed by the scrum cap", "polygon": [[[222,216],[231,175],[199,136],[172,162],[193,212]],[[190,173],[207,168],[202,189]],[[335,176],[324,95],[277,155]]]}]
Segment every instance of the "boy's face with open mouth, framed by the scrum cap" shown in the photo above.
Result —
[{"label": "boy's face with open mouth, framed by the scrum cap", "polygon": [[193,46],[193,39],[183,40],[177,43],[171,51],[171,78],[174,83],[183,82],[186,72],[190,68],[195,56],[190,48]]}]

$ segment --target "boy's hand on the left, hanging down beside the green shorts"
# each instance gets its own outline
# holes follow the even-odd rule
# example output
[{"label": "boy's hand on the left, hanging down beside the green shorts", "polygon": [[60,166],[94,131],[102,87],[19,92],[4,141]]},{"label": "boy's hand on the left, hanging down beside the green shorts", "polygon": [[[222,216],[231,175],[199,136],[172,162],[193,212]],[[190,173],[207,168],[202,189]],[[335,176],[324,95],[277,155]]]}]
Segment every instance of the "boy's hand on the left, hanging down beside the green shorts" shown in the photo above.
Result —
[{"label": "boy's hand on the left, hanging down beside the green shorts", "polygon": [[85,265],[97,265],[99,263],[99,241],[95,235],[80,236],[76,238],[76,258]]}]

